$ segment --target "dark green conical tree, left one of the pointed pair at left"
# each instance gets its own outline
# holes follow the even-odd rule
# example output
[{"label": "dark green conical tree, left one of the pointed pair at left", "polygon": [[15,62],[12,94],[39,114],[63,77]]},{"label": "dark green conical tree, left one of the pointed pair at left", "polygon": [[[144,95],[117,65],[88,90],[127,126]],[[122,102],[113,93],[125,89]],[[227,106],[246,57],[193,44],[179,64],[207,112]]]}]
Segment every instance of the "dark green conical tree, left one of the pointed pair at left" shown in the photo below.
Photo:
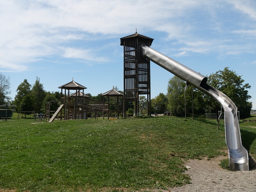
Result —
[{"label": "dark green conical tree, left one of the pointed pair at left", "polygon": [[[17,94],[14,98],[14,103],[17,106],[16,110],[18,111],[25,111],[22,106],[22,98],[28,94],[31,94],[31,85],[28,83],[28,80],[24,79],[24,81],[18,86],[16,90]],[[33,104],[32,104],[33,106]],[[33,106],[34,107],[34,106]]]}]

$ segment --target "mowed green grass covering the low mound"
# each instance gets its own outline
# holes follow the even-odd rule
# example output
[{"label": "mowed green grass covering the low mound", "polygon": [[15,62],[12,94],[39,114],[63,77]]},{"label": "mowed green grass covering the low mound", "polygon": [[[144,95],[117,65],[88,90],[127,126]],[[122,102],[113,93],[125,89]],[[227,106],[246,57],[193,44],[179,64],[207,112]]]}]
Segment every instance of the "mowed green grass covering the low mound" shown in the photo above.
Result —
[{"label": "mowed green grass covering the low mound", "polygon": [[[226,155],[224,124],[184,118],[0,122],[0,188],[153,191],[190,183],[184,160]],[[256,129],[241,127],[256,155]],[[245,141],[245,143],[244,143]]]}]

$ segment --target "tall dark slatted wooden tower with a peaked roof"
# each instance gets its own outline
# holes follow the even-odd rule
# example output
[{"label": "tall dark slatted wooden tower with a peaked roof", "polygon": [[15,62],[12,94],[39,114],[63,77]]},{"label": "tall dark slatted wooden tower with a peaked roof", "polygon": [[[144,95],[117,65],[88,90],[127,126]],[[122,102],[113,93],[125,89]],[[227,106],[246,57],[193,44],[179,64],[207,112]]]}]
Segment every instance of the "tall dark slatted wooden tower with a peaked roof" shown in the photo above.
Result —
[{"label": "tall dark slatted wooden tower with a peaked roof", "polygon": [[120,38],[124,46],[124,117],[126,102],[135,102],[135,115],[139,115],[139,96],[146,95],[150,113],[150,61],[141,57],[140,45],[151,46],[154,39],[138,34]]}]

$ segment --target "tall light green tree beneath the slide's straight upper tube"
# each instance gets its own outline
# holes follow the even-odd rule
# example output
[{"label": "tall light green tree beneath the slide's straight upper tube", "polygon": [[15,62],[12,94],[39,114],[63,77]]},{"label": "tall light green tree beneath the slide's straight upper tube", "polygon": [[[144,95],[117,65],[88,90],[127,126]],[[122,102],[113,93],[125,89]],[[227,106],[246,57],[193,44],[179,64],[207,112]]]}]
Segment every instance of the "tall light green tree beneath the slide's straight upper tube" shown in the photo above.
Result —
[{"label": "tall light green tree beneath the slide's straight upper tube", "polygon": [[185,82],[173,76],[167,87],[167,96],[168,96],[168,110],[174,116],[183,116],[184,115],[184,90]]}]

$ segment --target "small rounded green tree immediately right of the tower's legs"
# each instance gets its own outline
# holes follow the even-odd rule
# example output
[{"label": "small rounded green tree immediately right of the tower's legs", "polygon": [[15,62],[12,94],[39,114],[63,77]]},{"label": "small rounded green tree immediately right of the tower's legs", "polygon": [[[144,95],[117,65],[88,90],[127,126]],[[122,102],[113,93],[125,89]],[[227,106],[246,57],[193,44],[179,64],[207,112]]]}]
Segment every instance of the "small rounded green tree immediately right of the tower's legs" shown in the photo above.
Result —
[{"label": "small rounded green tree immediately right of the tower's legs", "polygon": [[158,96],[155,98],[151,99],[151,112],[152,113],[157,113],[157,114],[162,114],[164,113],[164,110],[167,109],[168,106],[168,99],[165,94],[160,93]]}]

